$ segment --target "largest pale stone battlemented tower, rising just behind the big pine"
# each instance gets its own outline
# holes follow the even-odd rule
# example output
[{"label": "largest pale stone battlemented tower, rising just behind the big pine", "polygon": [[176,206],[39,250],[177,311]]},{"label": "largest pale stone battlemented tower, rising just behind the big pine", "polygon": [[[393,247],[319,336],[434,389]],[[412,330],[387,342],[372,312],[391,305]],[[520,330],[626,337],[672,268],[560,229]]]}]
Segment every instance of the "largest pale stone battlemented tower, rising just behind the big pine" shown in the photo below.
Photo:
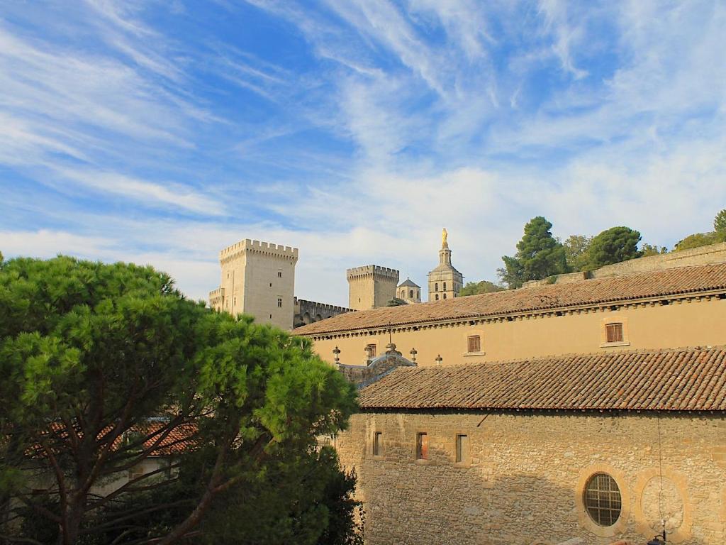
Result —
[{"label": "largest pale stone battlemented tower, rising just behind the big pine", "polygon": [[219,252],[219,288],[209,304],[233,315],[249,314],[261,323],[293,327],[295,263],[298,249],[260,241],[232,244]]}]

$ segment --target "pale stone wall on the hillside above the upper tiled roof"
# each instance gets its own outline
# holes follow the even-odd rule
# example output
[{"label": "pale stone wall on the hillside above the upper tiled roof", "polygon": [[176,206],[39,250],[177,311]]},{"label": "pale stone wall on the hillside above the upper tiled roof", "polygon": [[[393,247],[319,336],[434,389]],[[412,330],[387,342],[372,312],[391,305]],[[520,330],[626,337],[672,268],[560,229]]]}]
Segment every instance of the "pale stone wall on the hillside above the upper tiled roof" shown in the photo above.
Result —
[{"label": "pale stone wall on the hillside above the upper tiled roof", "polygon": [[587,278],[608,278],[611,276],[645,273],[650,270],[674,269],[677,267],[691,267],[693,265],[711,265],[726,262],[726,242],[709,244],[683,251],[672,251],[669,254],[639,257],[628,261],[605,265],[599,269],[585,273],[569,273],[556,275],[553,278],[531,280],[524,284],[525,288],[531,286],[544,286],[544,284],[567,284],[587,280]]}]

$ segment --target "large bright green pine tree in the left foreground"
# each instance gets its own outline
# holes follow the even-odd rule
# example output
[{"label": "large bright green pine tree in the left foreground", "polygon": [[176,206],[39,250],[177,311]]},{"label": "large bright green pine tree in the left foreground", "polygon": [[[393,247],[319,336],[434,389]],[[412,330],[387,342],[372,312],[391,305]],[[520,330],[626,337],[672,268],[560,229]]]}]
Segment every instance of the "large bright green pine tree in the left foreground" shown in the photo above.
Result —
[{"label": "large bright green pine tree in the left foreground", "polygon": [[[63,545],[177,509],[170,525],[129,534],[174,543],[215,498],[304,457],[356,406],[308,339],[190,302],[151,267],[70,257],[2,263],[0,376],[0,509],[51,522]],[[99,493],[174,445],[163,472]],[[29,495],[28,467],[52,485]],[[183,475],[181,500],[134,501]]]}]

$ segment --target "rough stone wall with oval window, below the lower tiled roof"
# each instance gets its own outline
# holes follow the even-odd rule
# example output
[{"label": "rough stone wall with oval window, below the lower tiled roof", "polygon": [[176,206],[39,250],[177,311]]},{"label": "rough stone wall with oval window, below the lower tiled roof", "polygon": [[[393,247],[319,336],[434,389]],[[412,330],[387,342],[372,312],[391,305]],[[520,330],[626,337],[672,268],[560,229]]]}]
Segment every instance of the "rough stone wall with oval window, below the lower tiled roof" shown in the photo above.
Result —
[{"label": "rough stone wall with oval window, below the lower tiled roof", "polygon": [[[372,454],[375,432],[382,456]],[[429,437],[427,461],[415,459],[418,432]],[[454,462],[457,434],[468,436],[462,464]],[[721,415],[360,413],[335,447],[356,468],[368,545],[640,544],[659,529],[661,511],[669,543],[726,539]],[[612,475],[621,490],[623,510],[611,528],[595,525],[583,506],[596,472]]]}]

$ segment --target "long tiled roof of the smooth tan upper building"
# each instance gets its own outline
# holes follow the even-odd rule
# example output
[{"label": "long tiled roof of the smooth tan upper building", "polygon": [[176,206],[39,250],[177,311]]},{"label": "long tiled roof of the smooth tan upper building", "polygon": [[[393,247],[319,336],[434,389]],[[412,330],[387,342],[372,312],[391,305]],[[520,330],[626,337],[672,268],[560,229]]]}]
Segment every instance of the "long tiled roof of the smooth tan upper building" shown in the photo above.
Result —
[{"label": "long tiled roof of the smooth tan upper building", "polygon": [[315,335],[439,320],[516,315],[537,310],[712,290],[726,291],[726,263],[497,291],[492,294],[406,304],[400,307],[359,310],[295,328],[293,334]]}]

